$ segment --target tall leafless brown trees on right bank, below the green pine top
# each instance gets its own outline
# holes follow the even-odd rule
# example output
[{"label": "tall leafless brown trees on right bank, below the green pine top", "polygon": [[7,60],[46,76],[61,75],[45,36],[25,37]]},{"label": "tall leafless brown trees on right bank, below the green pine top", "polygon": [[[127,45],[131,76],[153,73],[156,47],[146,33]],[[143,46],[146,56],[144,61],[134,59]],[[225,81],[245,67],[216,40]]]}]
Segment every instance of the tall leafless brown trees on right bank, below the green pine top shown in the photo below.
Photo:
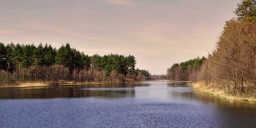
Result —
[{"label": "tall leafless brown trees on right bank, below the green pine top", "polygon": [[256,86],[256,20],[233,20],[227,24],[208,58],[203,80],[230,92],[248,92]]}]

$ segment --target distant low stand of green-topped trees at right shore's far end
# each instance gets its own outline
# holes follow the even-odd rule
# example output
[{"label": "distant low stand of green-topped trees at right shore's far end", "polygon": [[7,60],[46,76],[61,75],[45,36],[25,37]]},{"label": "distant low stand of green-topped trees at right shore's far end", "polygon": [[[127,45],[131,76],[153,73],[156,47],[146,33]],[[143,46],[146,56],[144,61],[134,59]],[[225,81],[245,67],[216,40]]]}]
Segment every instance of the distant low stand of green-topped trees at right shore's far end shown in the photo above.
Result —
[{"label": "distant low stand of green-topped trees at right shore's far end", "polygon": [[182,63],[174,63],[167,69],[167,79],[172,81],[197,81],[200,66],[206,57],[197,57]]}]

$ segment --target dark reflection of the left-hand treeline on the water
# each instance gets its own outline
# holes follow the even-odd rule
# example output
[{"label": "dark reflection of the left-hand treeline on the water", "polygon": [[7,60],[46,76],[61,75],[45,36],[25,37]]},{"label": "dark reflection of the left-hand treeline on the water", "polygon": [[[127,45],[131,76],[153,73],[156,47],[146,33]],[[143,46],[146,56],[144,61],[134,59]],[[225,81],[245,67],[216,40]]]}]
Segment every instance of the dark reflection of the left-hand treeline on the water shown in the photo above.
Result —
[{"label": "dark reflection of the left-hand treeline on the water", "polygon": [[[90,87],[99,89],[90,90]],[[124,88],[134,87],[124,84],[102,84],[102,85],[81,85],[65,87],[24,87],[24,88],[4,88],[0,90],[1,99],[38,99],[38,98],[58,98],[58,97],[102,97],[107,99],[134,97],[134,89]],[[108,89],[101,89],[108,88]],[[120,89],[113,89],[120,88]]]}]

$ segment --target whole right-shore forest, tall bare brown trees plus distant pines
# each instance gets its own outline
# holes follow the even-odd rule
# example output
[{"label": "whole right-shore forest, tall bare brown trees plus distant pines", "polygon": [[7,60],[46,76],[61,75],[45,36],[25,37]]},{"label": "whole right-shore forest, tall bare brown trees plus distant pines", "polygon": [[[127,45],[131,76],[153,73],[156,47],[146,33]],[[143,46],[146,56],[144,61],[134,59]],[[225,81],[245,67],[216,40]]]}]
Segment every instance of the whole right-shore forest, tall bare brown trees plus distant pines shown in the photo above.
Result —
[{"label": "whole right-shore forest, tall bare brown trees plus distant pines", "polygon": [[[198,60],[200,64],[195,67],[191,63],[188,66],[184,66],[184,63],[174,64],[167,70],[169,79],[203,81],[206,86],[223,89],[225,92],[255,95],[255,0],[241,1],[234,12],[237,17],[226,22],[214,52],[207,59]],[[196,75],[189,76],[191,73]]]}]

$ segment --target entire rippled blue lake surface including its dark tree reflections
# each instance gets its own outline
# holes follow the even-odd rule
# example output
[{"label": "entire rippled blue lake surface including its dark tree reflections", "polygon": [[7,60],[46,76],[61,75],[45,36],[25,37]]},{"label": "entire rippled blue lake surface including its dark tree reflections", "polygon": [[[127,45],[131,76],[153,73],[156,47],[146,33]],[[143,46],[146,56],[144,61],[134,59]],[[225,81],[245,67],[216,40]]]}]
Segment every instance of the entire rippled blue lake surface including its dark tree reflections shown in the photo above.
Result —
[{"label": "entire rippled blue lake surface including its dark tree reflections", "polygon": [[256,127],[256,106],[187,83],[0,88],[0,127]]}]

